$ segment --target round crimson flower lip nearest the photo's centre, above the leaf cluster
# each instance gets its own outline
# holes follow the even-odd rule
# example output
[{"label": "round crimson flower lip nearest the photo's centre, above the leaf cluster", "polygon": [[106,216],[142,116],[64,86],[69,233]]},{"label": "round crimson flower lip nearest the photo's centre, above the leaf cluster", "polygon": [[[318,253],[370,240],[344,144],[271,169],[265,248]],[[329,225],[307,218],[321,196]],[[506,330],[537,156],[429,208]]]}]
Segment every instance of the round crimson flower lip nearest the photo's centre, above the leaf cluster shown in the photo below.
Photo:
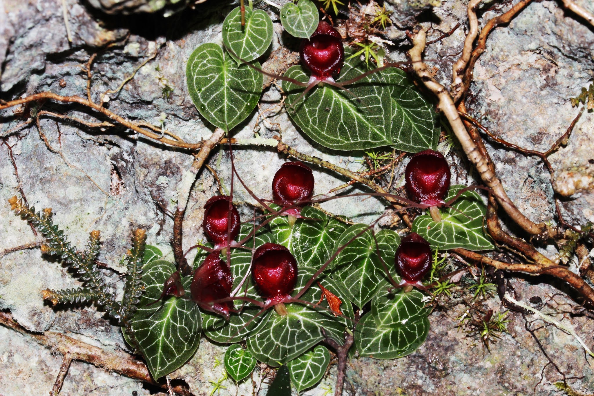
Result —
[{"label": "round crimson flower lip nearest the photo's centre, above the leaf cluster", "polygon": [[314,193],[314,173],[300,161],[285,162],[274,174],[272,196],[274,202],[290,206],[307,201]]}]

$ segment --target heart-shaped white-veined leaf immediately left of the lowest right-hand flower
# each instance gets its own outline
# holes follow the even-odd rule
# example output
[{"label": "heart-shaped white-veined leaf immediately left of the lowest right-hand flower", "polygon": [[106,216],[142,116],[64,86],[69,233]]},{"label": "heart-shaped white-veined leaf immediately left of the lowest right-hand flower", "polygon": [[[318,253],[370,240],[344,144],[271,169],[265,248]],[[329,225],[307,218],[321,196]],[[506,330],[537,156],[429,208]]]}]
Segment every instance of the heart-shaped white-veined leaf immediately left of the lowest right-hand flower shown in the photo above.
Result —
[{"label": "heart-shaped white-veined leaf immediately left of the lowest right-hand flower", "polygon": [[[331,262],[332,277],[336,286],[356,306],[362,308],[386,284],[386,270],[377,254],[375,239],[365,224],[353,224],[339,240],[336,249],[349,243]],[[367,230],[366,230],[367,229]],[[359,235],[361,234],[361,235]],[[359,235],[359,236],[357,236]],[[391,271],[400,237],[392,230],[381,230],[376,235],[384,263]]]}]

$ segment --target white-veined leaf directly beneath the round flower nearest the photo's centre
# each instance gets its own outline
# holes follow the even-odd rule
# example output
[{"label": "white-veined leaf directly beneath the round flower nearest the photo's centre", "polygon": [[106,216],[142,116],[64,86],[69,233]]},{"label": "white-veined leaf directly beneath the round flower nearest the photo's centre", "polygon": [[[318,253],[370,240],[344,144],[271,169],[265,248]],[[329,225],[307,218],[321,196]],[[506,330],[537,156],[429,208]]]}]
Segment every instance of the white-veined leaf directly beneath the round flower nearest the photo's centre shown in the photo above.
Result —
[{"label": "white-veined leaf directly beneath the round flower nearest the photo's centre", "polygon": [[301,216],[289,226],[288,216],[270,222],[270,229],[280,245],[289,248],[299,265],[320,268],[334,253],[334,243],[347,225],[311,206],[301,210]]}]

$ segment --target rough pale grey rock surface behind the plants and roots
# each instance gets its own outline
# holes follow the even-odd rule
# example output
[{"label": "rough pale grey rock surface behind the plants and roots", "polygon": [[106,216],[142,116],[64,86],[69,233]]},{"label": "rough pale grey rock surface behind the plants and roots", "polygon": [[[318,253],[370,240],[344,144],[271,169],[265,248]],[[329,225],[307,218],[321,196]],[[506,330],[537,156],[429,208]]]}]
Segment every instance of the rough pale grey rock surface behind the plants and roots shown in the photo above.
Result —
[{"label": "rough pale grey rock surface behind the plants and roots", "polygon": [[[594,6],[587,0],[576,2],[594,11]],[[391,3],[396,9],[418,9],[406,0]],[[169,18],[163,18],[161,14],[114,18],[97,12],[86,2],[65,0],[65,4],[68,24],[62,14],[62,2],[0,0],[1,99],[10,100],[40,91],[84,97],[87,80],[83,68],[90,56],[98,53],[92,66],[91,93],[94,100],[105,100],[103,93],[118,88],[147,61],[121,91],[108,93],[109,109],[128,119],[163,125],[186,141],[200,141],[210,136],[213,126],[198,115],[185,88],[185,59],[201,43],[221,42],[222,20],[236,4],[210,0],[196,5],[194,10],[187,9]],[[146,11],[148,8],[144,7],[162,8],[166,2],[141,5],[138,1],[91,1],[91,4],[106,12],[126,13]],[[487,9],[491,5],[479,9],[481,26],[500,12],[500,5]],[[281,45],[289,45],[295,50],[291,47],[294,43],[287,41],[282,33],[275,10],[268,8],[268,11],[275,26],[271,50]],[[442,31],[450,31],[459,21],[462,23],[451,36],[430,45],[425,54],[426,59],[438,60],[434,71],[442,83],[448,85],[451,64],[457,59],[465,38],[466,1],[444,1],[429,16],[429,19],[426,15],[421,18],[422,26],[429,29],[428,40],[437,39]],[[402,19],[397,13],[391,17],[397,26],[410,26],[409,14],[403,15]],[[507,27],[492,31],[486,51],[476,64],[475,83],[470,88],[467,103],[473,115],[507,141],[533,150],[548,150],[579,111],[571,107],[569,98],[577,96],[581,87],[594,77],[594,30],[582,22],[561,9],[559,2],[544,0],[530,4]],[[402,34],[394,37],[397,36],[403,39]],[[400,43],[404,46],[406,42]],[[405,59],[400,50],[393,56]],[[172,88],[169,99],[163,97],[166,87]],[[261,110],[277,110],[260,117],[258,125],[255,125],[258,113],[254,112],[236,128],[233,137],[252,138],[254,131],[263,138],[281,135],[283,141],[302,153],[352,170],[361,167],[358,161],[362,153],[327,150],[306,138],[284,110],[280,111],[279,100],[280,93],[272,84],[264,93]],[[95,121],[93,113],[79,106],[47,102],[43,109]],[[113,282],[118,282],[115,271],[125,270],[120,261],[128,249],[131,230],[136,227],[146,229],[148,242],[160,246],[170,255],[173,223],[155,201],[170,211],[175,209],[176,186],[192,163],[191,155],[119,127],[88,128],[52,117],[43,117],[40,121],[47,145],[40,139],[34,123],[21,129],[18,135],[7,137],[11,128],[24,121],[18,111],[27,109],[0,113],[4,122],[0,124],[0,137],[4,141],[0,145],[0,252],[38,240],[24,221],[10,213],[7,199],[18,194],[20,186],[29,204],[37,210],[52,208],[56,223],[67,230],[73,244],[79,248],[84,246],[91,230],[101,230],[100,261],[111,268],[102,271]],[[549,157],[555,169],[557,191],[560,191],[558,185],[564,174],[574,169],[591,168],[589,161],[594,159],[592,135],[593,115],[584,112],[568,144]],[[526,157],[499,144],[486,142],[498,176],[520,210],[534,221],[554,221],[551,175],[542,162],[537,157]],[[14,165],[10,153],[14,156]],[[455,153],[454,147],[448,160],[460,163]],[[255,194],[270,197],[271,178],[286,158],[270,147],[237,148],[234,158],[240,176]],[[217,149],[209,163],[217,170],[223,190],[229,189],[229,154]],[[401,170],[397,169],[397,172]],[[324,194],[346,182],[324,169],[314,169],[314,173],[314,194]],[[592,175],[591,172],[586,174]],[[472,173],[466,175],[463,171],[453,177],[460,183],[473,183]],[[235,182],[234,189],[236,201],[255,203],[239,183]],[[206,169],[201,171],[185,217],[185,248],[204,239],[200,227],[201,209],[217,191],[218,185],[211,173]],[[363,190],[350,190],[357,191]],[[384,202],[376,198],[365,201],[353,198],[326,202],[323,207],[354,221],[369,223],[383,213]],[[573,224],[594,221],[591,188],[584,188],[564,199],[562,207],[565,219]],[[244,205],[242,216],[250,213],[251,206]],[[0,309],[10,310],[27,330],[66,332],[108,350],[126,350],[119,328],[113,327],[93,306],[53,309],[44,305],[40,298],[40,290],[47,287],[60,289],[77,284],[65,267],[43,259],[39,249],[0,256]],[[573,312],[576,303],[555,294],[558,289],[567,291],[563,285],[552,284],[547,278],[519,278],[511,284],[518,300],[526,302],[530,297],[541,297],[546,305],[539,309],[564,324],[573,324],[577,334],[592,346],[592,315],[568,313]],[[571,387],[592,393],[594,376],[579,343],[532,315],[508,313],[508,333],[503,333],[501,340],[490,343],[489,350],[478,337],[457,330],[460,321],[456,318],[464,315],[469,306],[503,310],[497,297],[473,301],[467,298],[469,293],[472,297],[472,292],[467,290],[454,293],[444,302],[447,309],[432,313],[428,340],[410,356],[391,361],[353,359],[347,370],[350,385],[346,386],[345,394],[558,394],[553,384],[562,380],[563,375],[546,359],[536,338],[567,378],[579,377],[568,380]],[[526,330],[526,322],[531,330],[539,328],[534,336]],[[0,327],[0,339],[5,340],[0,346],[0,393],[4,396],[23,392],[47,394],[61,357],[4,327]],[[186,366],[172,373],[171,378],[183,379],[194,394],[210,394],[212,385],[209,381],[216,382],[222,375],[220,366],[214,368],[215,357],[220,359],[224,351],[225,347],[203,337],[198,353]],[[333,365],[317,388],[302,394],[326,395],[327,389],[334,385],[335,374],[336,366]],[[240,384],[239,394],[252,394],[254,384],[260,388],[260,395],[265,394],[270,376],[269,369],[255,370],[254,382],[248,380]],[[223,385],[226,389],[221,389],[221,395],[236,394],[232,381],[224,381]],[[138,382],[81,362],[73,363],[62,388],[62,394],[67,395],[134,392],[149,394],[149,390]]]}]

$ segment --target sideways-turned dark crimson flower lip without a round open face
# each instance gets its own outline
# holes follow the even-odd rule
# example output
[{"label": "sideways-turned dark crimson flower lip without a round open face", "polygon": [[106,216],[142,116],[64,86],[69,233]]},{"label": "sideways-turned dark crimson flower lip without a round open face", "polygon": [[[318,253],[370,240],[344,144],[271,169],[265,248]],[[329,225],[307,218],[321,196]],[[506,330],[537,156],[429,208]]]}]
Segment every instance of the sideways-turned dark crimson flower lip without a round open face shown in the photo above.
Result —
[{"label": "sideways-turned dark crimson flower lip without a round open face", "polygon": [[194,271],[192,301],[207,311],[229,319],[229,303],[213,301],[229,297],[232,285],[233,277],[227,263],[220,259],[220,252],[212,252]]}]

